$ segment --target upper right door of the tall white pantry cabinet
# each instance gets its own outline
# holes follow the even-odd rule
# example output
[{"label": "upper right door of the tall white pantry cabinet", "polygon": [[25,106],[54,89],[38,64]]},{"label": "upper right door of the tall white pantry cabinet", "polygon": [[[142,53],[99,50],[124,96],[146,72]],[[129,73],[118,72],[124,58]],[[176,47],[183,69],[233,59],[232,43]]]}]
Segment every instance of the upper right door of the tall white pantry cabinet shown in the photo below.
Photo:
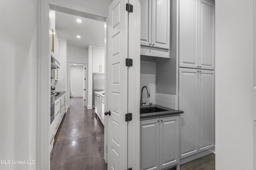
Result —
[{"label": "upper right door of the tall white pantry cabinet", "polygon": [[214,4],[200,0],[199,13],[198,64],[203,69],[214,70]]}]

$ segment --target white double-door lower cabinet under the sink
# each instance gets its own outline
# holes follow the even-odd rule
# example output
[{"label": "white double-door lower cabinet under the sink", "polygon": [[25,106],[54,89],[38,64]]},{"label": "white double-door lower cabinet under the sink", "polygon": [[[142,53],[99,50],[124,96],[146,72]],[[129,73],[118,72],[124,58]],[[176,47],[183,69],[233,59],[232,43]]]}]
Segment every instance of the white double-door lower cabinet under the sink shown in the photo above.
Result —
[{"label": "white double-door lower cabinet under the sink", "polygon": [[140,169],[162,170],[179,163],[179,117],[140,121]]}]

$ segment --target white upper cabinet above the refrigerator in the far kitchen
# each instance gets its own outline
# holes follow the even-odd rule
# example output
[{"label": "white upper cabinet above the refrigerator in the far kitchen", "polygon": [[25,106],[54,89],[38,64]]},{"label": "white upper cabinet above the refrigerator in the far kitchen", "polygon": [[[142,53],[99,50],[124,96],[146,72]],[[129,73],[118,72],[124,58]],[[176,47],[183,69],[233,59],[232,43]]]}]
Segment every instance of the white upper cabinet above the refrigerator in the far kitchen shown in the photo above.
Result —
[{"label": "white upper cabinet above the refrigerator in the far kitchen", "polygon": [[92,72],[104,72],[105,50],[104,47],[92,46]]}]

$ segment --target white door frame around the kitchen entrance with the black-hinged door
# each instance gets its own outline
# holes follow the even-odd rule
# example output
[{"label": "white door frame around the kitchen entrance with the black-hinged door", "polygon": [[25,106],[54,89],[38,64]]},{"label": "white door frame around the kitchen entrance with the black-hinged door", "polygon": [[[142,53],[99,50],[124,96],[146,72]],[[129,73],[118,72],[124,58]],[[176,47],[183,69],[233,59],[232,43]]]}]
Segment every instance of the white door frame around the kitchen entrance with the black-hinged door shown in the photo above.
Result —
[{"label": "white door frame around the kitchen entrance with the black-hinged door", "polygon": [[[135,27],[134,31],[130,31],[133,36],[128,36],[129,39],[129,58],[134,60],[134,64],[129,68],[129,112],[133,113],[133,120],[128,123],[128,166],[133,169],[140,167],[140,1],[129,0],[133,4],[133,13],[130,15],[130,26]],[[48,114],[50,110],[50,34],[49,34],[49,11],[51,0],[38,0],[38,111],[37,111],[37,169],[50,170],[50,154],[49,154],[49,130],[50,119]],[[60,3],[59,3],[60,4]],[[58,5],[59,5],[58,4]],[[65,6],[64,2],[61,4]],[[60,5],[60,6],[61,6]],[[59,7],[60,6],[54,6]],[[124,8],[125,9],[125,8]],[[54,9],[52,9],[54,10]],[[62,10],[71,10],[62,8]],[[81,14],[90,15],[98,20],[102,20],[101,16],[88,14],[84,11],[76,11]],[[78,15],[78,16],[80,16]],[[107,23],[107,18],[105,18]],[[106,37],[107,31],[106,31]],[[130,43],[136,41],[136,43]],[[106,44],[105,53],[107,54],[108,44]],[[106,59],[105,59],[106,63]],[[88,66],[88,65],[87,65]],[[49,71],[45,71],[49,70]],[[105,73],[107,68],[105,67]],[[88,73],[88,71],[87,71]],[[137,102],[136,102],[137,101]],[[105,104],[105,107],[107,105]],[[106,119],[105,119],[106,120]],[[107,121],[107,120],[106,120]],[[105,124],[107,128],[107,124]],[[105,145],[105,144],[104,144]],[[107,159],[106,159],[107,160]]]}]

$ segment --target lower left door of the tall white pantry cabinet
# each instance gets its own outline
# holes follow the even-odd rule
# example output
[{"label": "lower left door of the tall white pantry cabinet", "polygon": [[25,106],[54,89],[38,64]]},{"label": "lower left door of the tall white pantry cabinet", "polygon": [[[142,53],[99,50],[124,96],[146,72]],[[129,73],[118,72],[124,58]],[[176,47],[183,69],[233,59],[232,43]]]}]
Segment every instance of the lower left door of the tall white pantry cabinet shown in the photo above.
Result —
[{"label": "lower left door of the tall white pantry cabinet", "polygon": [[196,69],[179,69],[180,158],[196,154],[198,116],[198,72]]}]

